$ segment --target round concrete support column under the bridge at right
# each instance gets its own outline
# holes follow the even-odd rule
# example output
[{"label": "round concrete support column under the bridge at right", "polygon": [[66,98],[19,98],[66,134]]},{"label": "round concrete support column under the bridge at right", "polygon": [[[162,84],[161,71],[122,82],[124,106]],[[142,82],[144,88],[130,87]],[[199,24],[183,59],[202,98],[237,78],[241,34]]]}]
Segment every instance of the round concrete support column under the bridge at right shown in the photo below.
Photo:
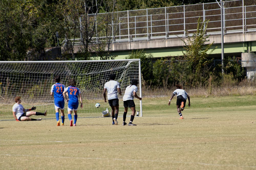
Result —
[{"label": "round concrete support column under the bridge at right", "polygon": [[256,76],[256,54],[242,53],[242,67],[247,69],[247,78],[254,79]]}]

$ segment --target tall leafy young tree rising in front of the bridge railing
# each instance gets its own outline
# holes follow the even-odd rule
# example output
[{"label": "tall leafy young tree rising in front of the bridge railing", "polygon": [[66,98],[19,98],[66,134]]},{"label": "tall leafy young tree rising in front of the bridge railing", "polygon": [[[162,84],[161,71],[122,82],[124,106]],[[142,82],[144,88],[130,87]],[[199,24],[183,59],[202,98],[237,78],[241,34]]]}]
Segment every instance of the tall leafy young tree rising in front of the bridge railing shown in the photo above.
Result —
[{"label": "tall leafy young tree rising in front of the bridge railing", "polygon": [[[209,42],[209,36],[206,35],[208,21],[202,22],[198,18],[197,31],[193,33],[192,36],[189,36],[188,31],[186,30],[186,35],[188,35],[187,42],[181,39],[185,46],[183,47],[185,51],[182,51],[184,59],[187,60],[188,67],[188,80],[186,81],[188,85],[199,86],[205,85],[209,76],[208,64],[211,60],[208,60],[207,57],[214,49],[211,49],[211,46],[214,42],[205,45],[206,42]],[[207,54],[209,52],[209,54]]]}]

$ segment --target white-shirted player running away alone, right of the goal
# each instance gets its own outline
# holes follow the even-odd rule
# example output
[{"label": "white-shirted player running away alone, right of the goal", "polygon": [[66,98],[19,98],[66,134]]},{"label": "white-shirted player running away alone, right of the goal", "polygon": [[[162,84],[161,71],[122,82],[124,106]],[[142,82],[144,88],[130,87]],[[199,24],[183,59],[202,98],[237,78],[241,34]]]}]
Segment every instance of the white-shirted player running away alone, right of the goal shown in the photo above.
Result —
[{"label": "white-shirted player running away alone, right of the goal", "polygon": [[181,111],[183,111],[185,109],[187,99],[188,99],[188,107],[190,106],[190,97],[187,94],[187,92],[182,89],[182,86],[177,84],[176,88],[177,89],[174,90],[174,92],[173,92],[173,94],[172,94],[172,96],[171,96],[171,98],[169,100],[168,105],[170,106],[171,100],[173,99],[173,97],[175,95],[177,95],[176,105],[177,105],[178,114],[180,115],[179,119],[184,119],[183,116],[182,116]]}]

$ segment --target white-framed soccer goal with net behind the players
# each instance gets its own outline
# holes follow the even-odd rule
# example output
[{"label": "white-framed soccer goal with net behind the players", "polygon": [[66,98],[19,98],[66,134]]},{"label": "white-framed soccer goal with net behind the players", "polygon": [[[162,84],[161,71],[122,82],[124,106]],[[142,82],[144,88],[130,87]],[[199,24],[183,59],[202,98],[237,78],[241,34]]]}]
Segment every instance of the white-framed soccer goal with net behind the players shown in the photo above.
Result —
[{"label": "white-framed soccer goal with net behind the players", "polygon": [[[84,108],[78,115],[84,117],[102,116],[102,111],[111,108],[104,102],[103,88],[109,81],[109,75],[115,73],[116,81],[121,85],[122,95],[132,79],[139,81],[137,94],[142,97],[140,59],[123,60],[83,60],[83,61],[1,61],[0,63],[0,103],[12,105],[16,96],[20,96],[22,105],[28,109],[37,106],[37,111],[47,110],[55,114],[54,98],[50,96],[55,76],[60,75],[60,83],[68,87],[69,79],[74,78],[81,91]],[[142,102],[134,99],[136,112],[142,116]],[[100,103],[96,108],[95,103]],[[119,96],[119,114],[123,114],[123,96]],[[80,101],[79,101],[80,107]],[[128,115],[131,110],[128,110]],[[67,102],[65,101],[65,114]]]}]

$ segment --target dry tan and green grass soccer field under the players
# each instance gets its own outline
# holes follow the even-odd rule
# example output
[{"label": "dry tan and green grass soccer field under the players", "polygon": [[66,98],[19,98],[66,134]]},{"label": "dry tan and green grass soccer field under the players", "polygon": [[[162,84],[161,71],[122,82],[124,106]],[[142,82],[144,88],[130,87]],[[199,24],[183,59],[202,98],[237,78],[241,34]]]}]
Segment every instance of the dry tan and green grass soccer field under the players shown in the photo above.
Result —
[{"label": "dry tan and green grass soccer field under the players", "polygon": [[1,115],[0,169],[256,169],[256,96],[191,97],[183,120],[168,100],[143,98],[137,126],[79,111],[76,127],[67,114],[58,127],[55,114]]}]

